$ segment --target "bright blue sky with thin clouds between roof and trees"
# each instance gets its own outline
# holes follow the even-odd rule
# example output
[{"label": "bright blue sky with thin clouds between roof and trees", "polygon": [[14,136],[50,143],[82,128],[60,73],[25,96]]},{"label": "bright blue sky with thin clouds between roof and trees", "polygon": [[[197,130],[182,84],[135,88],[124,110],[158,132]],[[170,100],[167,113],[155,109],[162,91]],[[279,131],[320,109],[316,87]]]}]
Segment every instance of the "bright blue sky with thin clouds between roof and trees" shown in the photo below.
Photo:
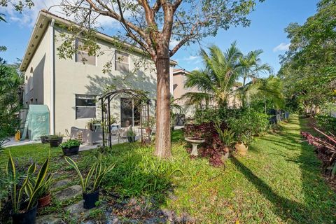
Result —
[{"label": "bright blue sky with thin clouds between roof and trees", "polygon": [[[36,1],[36,7],[27,10],[22,15],[14,13],[8,8],[1,8],[0,13],[6,13],[7,23],[0,22],[0,45],[6,45],[8,50],[0,52],[0,57],[9,63],[15,62],[16,58],[22,58],[29,41],[38,10],[47,8],[57,3],[57,0]],[[237,41],[239,49],[246,53],[251,50],[262,49],[262,62],[267,62],[279,70],[279,55],[283,54],[288,47],[288,39],[283,31],[290,22],[304,23],[305,20],[316,12],[317,0],[266,0],[258,3],[248,18],[251,19],[250,27],[232,27],[229,30],[221,30],[216,37],[208,37],[202,41],[202,47],[211,44],[218,45],[222,50]],[[108,27],[111,29],[111,27]],[[202,68],[198,54],[200,45],[193,44],[181,48],[173,59],[179,62],[183,69],[193,70]]]}]

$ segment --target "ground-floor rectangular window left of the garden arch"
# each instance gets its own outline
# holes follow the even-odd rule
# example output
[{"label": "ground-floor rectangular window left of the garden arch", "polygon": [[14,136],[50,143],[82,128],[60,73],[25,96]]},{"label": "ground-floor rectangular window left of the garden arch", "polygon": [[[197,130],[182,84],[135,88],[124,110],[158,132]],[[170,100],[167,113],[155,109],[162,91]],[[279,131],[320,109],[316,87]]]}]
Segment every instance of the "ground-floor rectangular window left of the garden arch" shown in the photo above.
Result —
[{"label": "ground-floor rectangular window left of the garden arch", "polygon": [[76,94],[76,119],[96,118],[96,96]]}]

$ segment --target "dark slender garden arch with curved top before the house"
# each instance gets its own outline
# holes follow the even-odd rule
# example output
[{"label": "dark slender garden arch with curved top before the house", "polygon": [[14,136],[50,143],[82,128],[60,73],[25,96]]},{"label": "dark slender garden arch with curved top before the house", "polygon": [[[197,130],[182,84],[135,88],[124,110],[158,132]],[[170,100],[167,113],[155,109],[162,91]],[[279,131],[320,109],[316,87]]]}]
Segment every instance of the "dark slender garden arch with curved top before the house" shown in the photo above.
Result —
[{"label": "dark slender garden arch with curved top before the house", "polygon": [[[145,99],[146,106],[147,106],[147,122],[149,123],[149,106],[150,106],[150,99],[144,94],[144,92],[137,92],[136,90],[132,89],[122,89],[122,90],[113,90],[111,92],[107,92],[99,97],[99,101],[102,104],[102,123],[106,125],[106,121],[104,118],[109,119],[107,120],[107,125],[109,126],[107,129],[106,127],[102,127],[102,137],[103,137],[103,146],[106,144],[106,140],[109,141],[109,147],[112,147],[112,139],[111,139],[111,101],[114,97],[118,94],[130,94],[132,97],[136,97],[138,99]],[[107,100],[107,103],[106,103]],[[142,103],[142,101],[141,101]],[[107,110],[107,111],[106,111]],[[107,117],[106,117],[107,112]],[[141,128],[141,142],[144,142],[144,134],[143,134],[143,104],[141,104],[141,111],[140,111],[140,128]],[[105,133],[107,130],[107,133]]]}]

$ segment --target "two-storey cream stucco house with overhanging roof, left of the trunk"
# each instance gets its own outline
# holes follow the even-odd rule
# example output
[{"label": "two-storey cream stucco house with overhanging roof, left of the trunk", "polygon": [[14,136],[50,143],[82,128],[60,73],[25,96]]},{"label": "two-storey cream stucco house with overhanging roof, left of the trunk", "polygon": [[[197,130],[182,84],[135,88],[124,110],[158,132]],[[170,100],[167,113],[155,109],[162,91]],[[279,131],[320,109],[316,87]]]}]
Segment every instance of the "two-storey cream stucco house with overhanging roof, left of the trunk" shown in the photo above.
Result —
[{"label": "two-storey cream stucco house with overhanging roof, left of the trunk", "polygon": [[[149,92],[148,97],[153,99],[151,114],[154,114],[156,74],[151,59],[144,59],[148,63],[137,69],[135,75],[130,75],[130,71],[134,71],[134,62],[141,59],[141,55],[134,50],[117,50],[113,45],[116,38],[102,33],[96,36],[104,55],[89,56],[82,49],[72,59],[60,59],[57,48],[62,43],[61,34],[67,34],[64,27],[70,25],[73,25],[71,21],[41,10],[20,66],[20,71],[25,72],[24,104],[26,107],[29,104],[48,106],[50,134],[64,134],[66,129],[70,130],[73,126],[84,128],[90,119],[100,119],[96,99],[109,85]],[[80,46],[80,39],[73,44]],[[107,62],[112,62],[111,72],[103,73]],[[172,61],[171,65],[176,65],[176,62]],[[125,127],[127,120],[133,125],[139,124],[139,110],[132,105],[127,95],[111,102],[113,115],[118,116],[122,127]]]}]

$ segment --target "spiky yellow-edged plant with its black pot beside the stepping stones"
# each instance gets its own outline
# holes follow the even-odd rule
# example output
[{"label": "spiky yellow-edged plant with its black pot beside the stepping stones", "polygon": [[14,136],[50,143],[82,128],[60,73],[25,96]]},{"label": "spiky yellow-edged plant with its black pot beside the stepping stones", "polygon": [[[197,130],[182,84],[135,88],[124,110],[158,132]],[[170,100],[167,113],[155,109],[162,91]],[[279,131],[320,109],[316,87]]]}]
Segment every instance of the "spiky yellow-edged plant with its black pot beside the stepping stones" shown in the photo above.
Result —
[{"label": "spiky yellow-edged plant with its black pot beside the stepping stones", "polygon": [[104,176],[110,172],[113,167],[115,166],[110,165],[106,167],[102,163],[102,155],[99,155],[98,159],[92,167],[90,168],[89,172],[87,173],[86,178],[83,178],[83,175],[80,173],[78,166],[75,161],[71,160],[69,157],[65,157],[66,162],[73,167],[80,179],[80,185],[82,186],[83,190],[83,207],[84,209],[92,209],[96,206],[96,202],[99,200],[99,186],[102,183],[102,179]]}]

